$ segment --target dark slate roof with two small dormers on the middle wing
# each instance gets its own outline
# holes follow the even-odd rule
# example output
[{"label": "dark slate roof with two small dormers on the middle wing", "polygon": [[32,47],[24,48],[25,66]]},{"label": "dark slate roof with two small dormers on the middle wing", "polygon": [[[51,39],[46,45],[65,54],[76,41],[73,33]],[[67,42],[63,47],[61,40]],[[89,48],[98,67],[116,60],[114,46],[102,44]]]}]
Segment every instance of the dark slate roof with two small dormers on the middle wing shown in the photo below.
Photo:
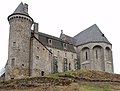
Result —
[{"label": "dark slate roof with two small dormers on the middle wing", "polygon": [[[52,39],[52,45],[48,44],[48,39]],[[39,40],[45,45],[45,46],[49,46],[52,48],[56,48],[56,49],[60,49],[60,50],[66,50],[66,51],[71,51],[71,52],[75,52],[74,46],[64,42],[62,39],[45,34],[45,33],[41,33],[39,32]],[[63,47],[63,43],[67,44],[66,49],[64,49]]]}]

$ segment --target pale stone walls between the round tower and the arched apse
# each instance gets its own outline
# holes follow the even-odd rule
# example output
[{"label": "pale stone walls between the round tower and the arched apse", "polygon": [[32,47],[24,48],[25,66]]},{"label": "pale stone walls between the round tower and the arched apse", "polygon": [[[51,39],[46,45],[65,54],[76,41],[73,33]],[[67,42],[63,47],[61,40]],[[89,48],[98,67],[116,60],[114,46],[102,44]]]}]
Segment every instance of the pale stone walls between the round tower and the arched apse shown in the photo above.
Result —
[{"label": "pale stone walls between the round tower and the arched apse", "polygon": [[[37,38],[38,35],[35,34]],[[67,71],[75,70],[75,61],[77,61],[77,54],[69,51],[59,50],[52,47],[42,45],[39,40],[33,38],[32,42],[32,55],[31,55],[31,75],[42,76],[55,73],[54,72],[54,58],[57,60],[57,72],[64,71],[64,58],[67,59]],[[77,64],[76,64],[77,65]]]}]

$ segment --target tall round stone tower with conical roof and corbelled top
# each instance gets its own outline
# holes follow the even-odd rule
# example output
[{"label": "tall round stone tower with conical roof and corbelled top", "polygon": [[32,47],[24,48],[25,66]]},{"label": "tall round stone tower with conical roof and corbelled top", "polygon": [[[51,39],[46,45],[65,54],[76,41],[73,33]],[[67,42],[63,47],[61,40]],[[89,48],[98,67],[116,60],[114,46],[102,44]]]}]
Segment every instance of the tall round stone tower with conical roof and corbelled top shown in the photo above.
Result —
[{"label": "tall round stone tower with conical roof and corbelled top", "polygon": [[28,5],[20,3],[8,16],[10,24],[6,79],[16,79],[30,74],[30,38],[33,19],[28,14]]}]

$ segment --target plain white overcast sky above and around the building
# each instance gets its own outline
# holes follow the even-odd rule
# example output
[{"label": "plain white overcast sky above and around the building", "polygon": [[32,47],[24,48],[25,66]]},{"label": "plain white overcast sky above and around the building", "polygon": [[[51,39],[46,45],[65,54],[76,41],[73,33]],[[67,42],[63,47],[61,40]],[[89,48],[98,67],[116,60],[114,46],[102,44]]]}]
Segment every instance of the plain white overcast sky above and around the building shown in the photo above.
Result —
[{"label": "plain white overcast sky above and around the building", "polygon": [[[120,73],[120,0],[22,0],[29,5],[29,15],[39,23],[39,32],[71,37],[97,24],[112,43],[114,72]],[[9,23],[21,0],[0,3],[0,69],[8,58]]]}]

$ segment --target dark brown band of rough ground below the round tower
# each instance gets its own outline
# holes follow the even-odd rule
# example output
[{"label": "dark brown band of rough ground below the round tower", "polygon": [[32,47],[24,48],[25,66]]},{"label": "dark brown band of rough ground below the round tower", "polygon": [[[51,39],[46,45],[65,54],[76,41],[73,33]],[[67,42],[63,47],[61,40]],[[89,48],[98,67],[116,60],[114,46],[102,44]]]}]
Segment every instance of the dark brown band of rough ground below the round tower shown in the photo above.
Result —
[{"label": "dark brown band of rough ground below the round tower", "polygon": [[38,86],[67,86],[71,84],[71,80],[68,79],[57,79],[48,77],[35,77],[25,79],[14,79],[0,83],[0,89],[16,89],[16,88],[31,88]]}]

